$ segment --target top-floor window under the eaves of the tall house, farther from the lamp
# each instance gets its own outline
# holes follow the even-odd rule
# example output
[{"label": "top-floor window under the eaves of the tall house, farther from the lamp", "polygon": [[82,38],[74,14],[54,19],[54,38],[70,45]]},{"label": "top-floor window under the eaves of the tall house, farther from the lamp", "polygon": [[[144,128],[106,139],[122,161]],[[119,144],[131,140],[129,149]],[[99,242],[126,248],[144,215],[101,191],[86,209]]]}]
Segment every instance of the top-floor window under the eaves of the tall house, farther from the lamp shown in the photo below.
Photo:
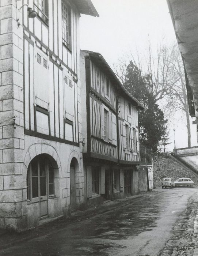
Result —
[{"label": "top-floor window under the eaves of the tall house, farther from the lamp", "polygon": [[62,0],[62,42],[71,50],[71,7]]}]

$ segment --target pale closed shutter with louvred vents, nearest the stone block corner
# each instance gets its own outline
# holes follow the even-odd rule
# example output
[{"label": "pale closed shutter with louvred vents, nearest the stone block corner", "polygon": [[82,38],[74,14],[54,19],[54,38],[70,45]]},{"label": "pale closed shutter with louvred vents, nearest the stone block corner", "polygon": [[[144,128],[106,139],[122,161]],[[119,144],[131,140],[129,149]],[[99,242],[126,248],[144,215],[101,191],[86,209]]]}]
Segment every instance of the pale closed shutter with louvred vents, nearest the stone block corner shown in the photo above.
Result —
[{"label": "pale closed shutter with louvred vents, nearest the stone block corner", "polygon": [[48,110],[49,57],[40,50],[36,50],[35,54],[35,85],[36,104]]}]

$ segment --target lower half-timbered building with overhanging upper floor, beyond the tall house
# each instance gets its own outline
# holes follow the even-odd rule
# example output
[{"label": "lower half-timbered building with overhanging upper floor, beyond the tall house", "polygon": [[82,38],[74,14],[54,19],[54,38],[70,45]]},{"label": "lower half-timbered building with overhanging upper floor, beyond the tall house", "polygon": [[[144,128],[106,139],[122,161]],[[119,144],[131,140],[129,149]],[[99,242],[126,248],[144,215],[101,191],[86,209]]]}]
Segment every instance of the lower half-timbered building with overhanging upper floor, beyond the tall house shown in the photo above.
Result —
[{"label": "lower half-timbered building with overhanging upper floor, beyond the tall house", "polygon": [[81,51],[85,200],[103,202],[138,192],[138,113],[142,108],[99,53]]}]

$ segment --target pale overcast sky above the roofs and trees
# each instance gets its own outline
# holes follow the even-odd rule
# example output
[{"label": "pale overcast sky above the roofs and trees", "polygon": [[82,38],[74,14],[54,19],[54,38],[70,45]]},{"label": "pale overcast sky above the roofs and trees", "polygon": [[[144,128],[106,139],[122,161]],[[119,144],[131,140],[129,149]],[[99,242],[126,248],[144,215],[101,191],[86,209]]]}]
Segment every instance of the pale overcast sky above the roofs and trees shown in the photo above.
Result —
[{"label": "pale overcast sky above the roofs and trees", "polygon": [[[166,0],[92,0],[92,3],[99,17],[81,15],[80,48],[99,52],[112,69],[130,53],[145,52],[148,38],[153,52],[162,42],[176,42]],[[173,128],[176,147],[187,147],[187,129],[180,116],[176,114],[169,122],[167,151],[174,148]],[[191,143],[197,146],[196,125],[191,126]]]}]

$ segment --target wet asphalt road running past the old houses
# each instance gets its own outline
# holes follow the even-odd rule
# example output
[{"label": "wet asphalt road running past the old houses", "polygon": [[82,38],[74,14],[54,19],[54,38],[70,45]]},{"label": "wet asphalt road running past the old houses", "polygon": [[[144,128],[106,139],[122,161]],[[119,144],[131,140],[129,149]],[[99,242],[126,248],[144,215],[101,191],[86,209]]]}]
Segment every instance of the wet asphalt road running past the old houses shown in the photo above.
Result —
[{"label": "wet asphalt road running past the old houses", "polygon": [[[0,247],[0,255],[168,255],[171,253],[167,244],[178,221],[182,218],[185,224],[190,218],[191,211],[183,218],[189,202],[194,203],[193,214],[197,214],[197,198],[197,188],[155,189],[131,197],[103,214],[59,226],[57,230],[47,227],[45,235]],[[178,240],[184,230],[179,230]]]}]

